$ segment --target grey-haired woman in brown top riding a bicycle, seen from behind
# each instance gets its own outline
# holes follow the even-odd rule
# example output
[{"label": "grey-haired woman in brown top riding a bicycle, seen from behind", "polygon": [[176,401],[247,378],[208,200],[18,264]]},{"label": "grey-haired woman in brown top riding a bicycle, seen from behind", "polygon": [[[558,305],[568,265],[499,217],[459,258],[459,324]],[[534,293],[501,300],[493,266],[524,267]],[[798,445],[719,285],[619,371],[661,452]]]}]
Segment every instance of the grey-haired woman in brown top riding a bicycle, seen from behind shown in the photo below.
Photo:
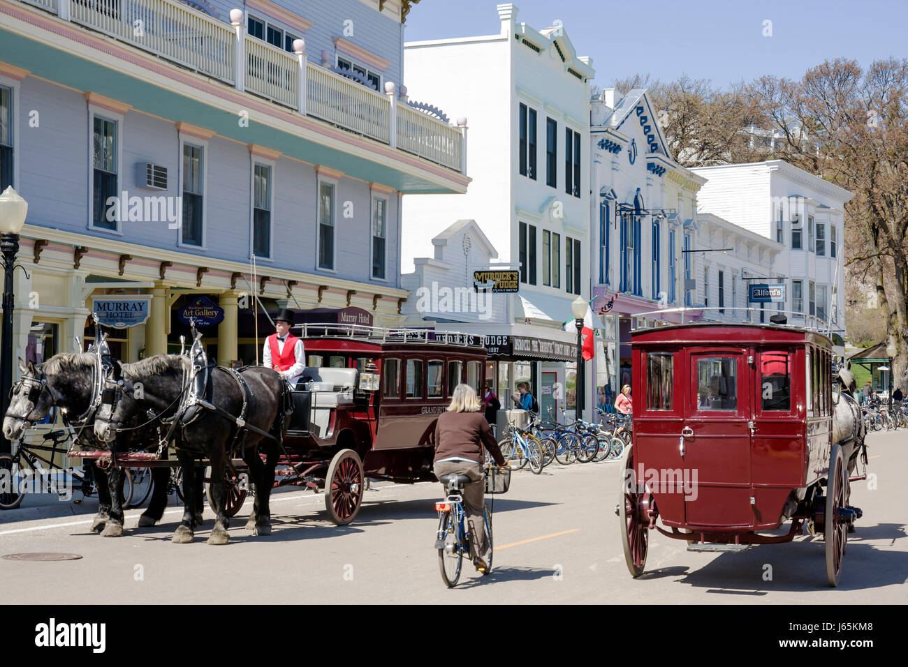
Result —
[{"label": "grey-haired woman in brown top riding a bicycle, seen from behind", "polygon": [[473,387],[461,384],[454,388],[448,411],[439,417],[435,426],[433,471],[436,477],[453,473],[472,480],[464,486],[463,508],[469,525],[470,556],[476,569],[484,573],[489,569],[486,564],[489,539],[483,521],[485,484],[482,466],[486,448],[498,466],[505,466],[505,458],[479,408],[479,397]]}]

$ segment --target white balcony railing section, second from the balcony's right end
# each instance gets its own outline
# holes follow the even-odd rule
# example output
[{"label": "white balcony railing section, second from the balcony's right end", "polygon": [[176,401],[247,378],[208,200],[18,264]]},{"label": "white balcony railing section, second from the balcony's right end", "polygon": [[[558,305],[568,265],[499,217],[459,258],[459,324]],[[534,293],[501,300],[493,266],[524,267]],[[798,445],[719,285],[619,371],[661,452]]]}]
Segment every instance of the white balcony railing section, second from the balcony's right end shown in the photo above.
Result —
[{"label": "white balcony railing section, second from the balcony's right end", "polygon": [[385,95],[318,65],[307,67],[306,113],[390,143],[390,101]]}]

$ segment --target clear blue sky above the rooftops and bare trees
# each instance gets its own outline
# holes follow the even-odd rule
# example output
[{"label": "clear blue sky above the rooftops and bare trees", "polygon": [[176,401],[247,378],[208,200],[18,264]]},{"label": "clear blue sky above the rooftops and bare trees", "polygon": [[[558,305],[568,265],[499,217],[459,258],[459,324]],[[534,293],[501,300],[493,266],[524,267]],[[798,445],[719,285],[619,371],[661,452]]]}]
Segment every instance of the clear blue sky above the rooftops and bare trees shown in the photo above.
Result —
[{"label": "clear blue sky above the rooftops and bare trees", "polygon": [[[593,58],[595,83],[633,74],[670,81],[688,74],[725,85],[763,74],[800,78],[835,57],[908,57],[908,0],[522,0],[518,23],[537,30],[559,19],[578,55]],[[404,39],[497,34],[497,0],[421,0]],[[772,36],[764,36],[764,21]],[[404,82],[406,83],[406,81]]]}]

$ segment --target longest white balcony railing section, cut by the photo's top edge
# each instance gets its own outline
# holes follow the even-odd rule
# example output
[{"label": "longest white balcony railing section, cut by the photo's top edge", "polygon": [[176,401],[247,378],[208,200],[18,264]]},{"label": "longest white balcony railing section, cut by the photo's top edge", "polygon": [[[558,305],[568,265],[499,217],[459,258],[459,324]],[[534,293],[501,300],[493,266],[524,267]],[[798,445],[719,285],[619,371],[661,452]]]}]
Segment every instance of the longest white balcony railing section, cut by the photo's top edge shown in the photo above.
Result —
[{"label": "longest white balcony railing section, cut by the photo's top edge", "polygon": [[186,5],[166,0],[71,0],[70,13],[75,23],[234,82],[236,36],[230,25]]}]

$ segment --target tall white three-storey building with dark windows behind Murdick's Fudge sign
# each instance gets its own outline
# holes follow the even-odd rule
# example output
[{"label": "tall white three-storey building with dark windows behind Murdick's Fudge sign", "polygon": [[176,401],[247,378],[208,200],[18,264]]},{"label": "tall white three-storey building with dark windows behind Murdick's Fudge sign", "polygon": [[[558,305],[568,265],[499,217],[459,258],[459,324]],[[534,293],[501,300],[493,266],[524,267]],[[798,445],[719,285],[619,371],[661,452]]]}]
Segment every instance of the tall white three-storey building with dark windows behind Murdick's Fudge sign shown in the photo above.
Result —
[{"label": "tall white three-storey building with dark windows behind Murdick's Fudge sign", "polygon": [[[497,251],[498,268],[520,270],[520,278],[500,319],[472,324],[471,331],[518,336],[517,327],[536,341],[576,339],[561,326],[572,319],[571,301],[590,297],[587,90],[594,72],[563,26],[536,30],[517,23],[517,15],[516,6],[498,5],[497,34],[405,44],[410,99],[430,99],[469,118],[472,182],[466,194],[404,198],[402,270],[429,254],[451,221],[476,221]],[[518,368],[518,359],[509,358],[515,366],[508,378],[492,369],[498,393],[513,387],[519,373],[544,413],[554,407],[556,383],[567,386],[570,407],[569,359],[540,354],[519,363],[525,361]],[[591,405],[587,396],[587,410]]]}]

